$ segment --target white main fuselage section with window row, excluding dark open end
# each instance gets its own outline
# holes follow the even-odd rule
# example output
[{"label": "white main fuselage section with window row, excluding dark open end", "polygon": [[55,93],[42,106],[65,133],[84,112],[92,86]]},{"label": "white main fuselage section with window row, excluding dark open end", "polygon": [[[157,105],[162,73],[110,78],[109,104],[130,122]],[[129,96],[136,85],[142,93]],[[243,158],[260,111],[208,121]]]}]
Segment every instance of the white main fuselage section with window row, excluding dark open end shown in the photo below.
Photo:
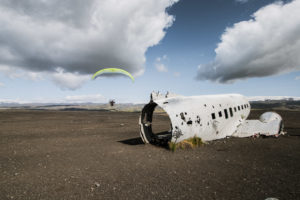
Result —
[{"label": "white main fuselage section with window row, excluding dark open end", "polygon": [[171,97],[154,101],[163,108],[172,122],[173,133],[180,142],[194,136],[204,141],[231,136],[250,113],[250,104],[239,94]]}]

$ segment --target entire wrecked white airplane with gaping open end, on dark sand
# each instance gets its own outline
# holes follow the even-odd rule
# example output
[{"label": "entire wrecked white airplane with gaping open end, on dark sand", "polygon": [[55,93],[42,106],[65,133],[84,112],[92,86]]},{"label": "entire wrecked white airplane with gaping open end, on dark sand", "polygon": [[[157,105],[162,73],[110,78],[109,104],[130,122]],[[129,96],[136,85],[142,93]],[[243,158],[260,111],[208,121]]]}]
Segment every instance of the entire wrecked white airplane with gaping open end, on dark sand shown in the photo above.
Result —
[{"label": "entire wrecked white airplane with gaping open end, on dark sand", "polygon": [[[152,132],[152,118],[156,107],[162,108],[170,119],[170,130]],[[266,112],[258,120],[247,120],[250,104],[239,94],[180,96],[152,92],[139,119],[140,136],[144,143],[179,143],[199,137],[211,141],[225,137],[283,134],[282,118]]]}]

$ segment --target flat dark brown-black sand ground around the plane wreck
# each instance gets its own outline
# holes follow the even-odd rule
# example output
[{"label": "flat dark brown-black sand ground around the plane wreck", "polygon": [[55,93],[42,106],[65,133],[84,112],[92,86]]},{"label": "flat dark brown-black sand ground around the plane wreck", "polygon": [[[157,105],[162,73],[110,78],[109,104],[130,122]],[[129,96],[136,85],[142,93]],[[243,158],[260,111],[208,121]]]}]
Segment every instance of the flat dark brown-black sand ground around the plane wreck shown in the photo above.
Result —
[{"label": "flat dark brown-black sand ground around the plane wreck", "polygon": [[300,112],[279,113],[290,135],[172,153],[139,113],[2,110],[0,199],[300,199]]}]

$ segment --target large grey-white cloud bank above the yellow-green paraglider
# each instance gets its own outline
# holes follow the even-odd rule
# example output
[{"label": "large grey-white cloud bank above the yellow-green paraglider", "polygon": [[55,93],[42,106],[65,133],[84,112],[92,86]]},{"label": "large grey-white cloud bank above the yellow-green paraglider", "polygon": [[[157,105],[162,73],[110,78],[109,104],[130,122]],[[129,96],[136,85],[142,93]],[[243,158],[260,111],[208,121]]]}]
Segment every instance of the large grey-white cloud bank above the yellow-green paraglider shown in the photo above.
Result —
[{"label": "large grey-white cloud bank above the yellow-green paraglider", "polygon": [[52,80],[70,89],[81,82],[59,77],[83,80],[110,66],[140,75],[145,52],[174,21],[166,8],[177,1],[2,0],[0,68],[56,74]]}]

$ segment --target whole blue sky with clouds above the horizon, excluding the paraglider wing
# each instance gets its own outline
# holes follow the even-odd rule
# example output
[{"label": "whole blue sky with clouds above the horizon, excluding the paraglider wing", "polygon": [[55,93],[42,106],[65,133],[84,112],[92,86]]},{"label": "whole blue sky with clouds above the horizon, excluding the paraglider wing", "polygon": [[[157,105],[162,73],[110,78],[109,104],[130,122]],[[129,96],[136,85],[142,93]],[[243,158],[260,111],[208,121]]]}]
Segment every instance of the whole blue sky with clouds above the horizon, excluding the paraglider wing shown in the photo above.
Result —
[{"label": "whole blue sky with clouds above the horizon, excluding the paraglider wing", "polygon": [[[1,0],[0,102],[300,96],[300,0]],[[92,75],[119,67],[135,77]]]}]

